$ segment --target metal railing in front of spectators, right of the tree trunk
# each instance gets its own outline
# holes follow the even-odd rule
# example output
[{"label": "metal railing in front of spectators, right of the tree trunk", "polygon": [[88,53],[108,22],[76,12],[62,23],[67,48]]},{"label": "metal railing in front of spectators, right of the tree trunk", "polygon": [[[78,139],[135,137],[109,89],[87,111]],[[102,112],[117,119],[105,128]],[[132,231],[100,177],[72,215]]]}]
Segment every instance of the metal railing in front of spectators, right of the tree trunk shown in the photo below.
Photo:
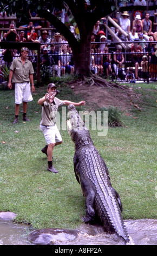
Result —
[{"label": "metal railing in front of spectators, right of the tree trunk", "polygon": [[[95,44],[101,45],[100,42],[95,42]],[[142,49],[142,52],[133,52],[133,46],[135,44],[139,45],[140,41],[123,41],[122,43],[109,41],[106,44],[108,45],[108,52],[99,54],[102,56],[102,63],[99,63],[99,65],[102,65],[103,69],[102,74],[99,72],[98,75],[106,76],[111,81],[118,80],[132,83],[136,81],[148,83],[157,81],[156,41],[145,42],[146,46]],[[120,51],[117,50],[118,46],[121,48]],[[97,50],[92,54],[93,56],[98,55]]]}]

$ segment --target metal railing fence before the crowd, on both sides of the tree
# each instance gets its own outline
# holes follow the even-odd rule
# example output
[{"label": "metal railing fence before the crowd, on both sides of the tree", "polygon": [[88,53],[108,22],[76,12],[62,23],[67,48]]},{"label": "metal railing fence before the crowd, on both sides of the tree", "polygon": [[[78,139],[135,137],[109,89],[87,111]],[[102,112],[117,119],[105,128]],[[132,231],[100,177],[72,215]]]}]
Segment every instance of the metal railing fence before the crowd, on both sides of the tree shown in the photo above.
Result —
[{"label": "metal railing fence before the crowd, on both sides of the tree", "polygon": [[[91,53],[91,60],[94,59],[95,67],[91,71],[98,76],[108,78],[110,81],[125,81],[125,82],[136,82],[143,81],[149,83],[150,81],[157,81],[157,44],[155,41],[146,42],[146,48],[144,52],[132,52],[132,46],[134,42],[122,42],[127,47],[122,51],[117,51],[117,45],[121,45],[120,42],[106,42],[108,47],[108,52],[97,52],[101,42],[95,42],[98,47],[94,53]],[[60,43],[61,44],[61,43]],[[62,43],[63,45],[64,43]],[[93,42],[91,43],[93,45]],[[64,75],[63,69],[65,66],[65,71],[71,74],[71,69],[75,68],[74,63],[70,63],[73,60],[72,53],[66,53],[61,55],[61,52],[58,53],[47,53],[46,55],[41,51],[41,46],[43,44],[37,43],[21,43],[21,42],[0,42],[0,66],[2,65],[11,65],[12,59],[19,57],[19,51],[21,47],[26,46],[30,49],[29,59],[31,60],[34,70],[35,78],[37,81],[40,81],[42,66],[46,65],[49,67],[52,76],[62,76]],[[57,43],[51,43],[48,45],[48,50],[51,50],[51,45],[57,45]],[[154,46],[155,45],[155,46]],[[4,55],[2,55],[3,49],[17,49],[18,54],[15,54],[12,57],[11,61],[7,62]],[[156,53],[155,53],[156,51]],[[48,51],[49,52],[49,51]],[[99,58],[98,58],[99,57]],[[42,59],[47,60],[44,64]],[[61,67],[58,66],[58,61],[64,59],[64,63],[68,63],[68,66],[61,64]],[[67,59],[67,60],[66,60]],[[98,59],[101,59],[100,62]],[[122,63],[121,63],[122,60]],[[97,61],[97,62],[96,62]],[[61,61],[62,63],[62,61]],[[92,66],[92,65],[91,65]],[[98,72],[98,70],[100,71]],[[0,74],[0,82],[3,81],[3,78]]]}]

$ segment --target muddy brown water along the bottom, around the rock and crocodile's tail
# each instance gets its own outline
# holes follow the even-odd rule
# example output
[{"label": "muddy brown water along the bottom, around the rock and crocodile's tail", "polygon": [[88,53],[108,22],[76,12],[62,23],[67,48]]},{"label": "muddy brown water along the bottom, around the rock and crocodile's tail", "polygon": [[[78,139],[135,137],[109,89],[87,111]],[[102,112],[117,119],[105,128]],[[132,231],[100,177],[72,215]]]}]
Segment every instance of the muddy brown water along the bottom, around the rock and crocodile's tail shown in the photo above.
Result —
[{"label": "muddy brown water along the bottom, around the rock and crocodile's tail", "polygon": [[[157,245],[157,220],[125,221],[130,236],[129,245]],[[82,224],[77,239],[64,245],[118,245],[116,235],[104,233],[100,225]],[[28,225],[0,220],[0,245],[31,245]],[[63,245],[63,243],[61,243]]]}]

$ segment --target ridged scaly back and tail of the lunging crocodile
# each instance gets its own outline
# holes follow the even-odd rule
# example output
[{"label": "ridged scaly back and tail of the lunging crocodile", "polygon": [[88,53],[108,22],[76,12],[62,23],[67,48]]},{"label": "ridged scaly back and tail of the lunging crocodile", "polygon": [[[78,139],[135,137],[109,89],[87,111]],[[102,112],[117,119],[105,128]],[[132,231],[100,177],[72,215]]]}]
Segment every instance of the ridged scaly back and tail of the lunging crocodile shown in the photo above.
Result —
[{"label": "ridged scaly back and tail of the lunging crocodile", "polygon": [[[76,172],[83,182],[95,191],[95,209],[108,232],[114,230],[125,237],[121,212],[108,176],[108,169],[99,151],[94,146],[78,150],[79,162]],[[80,182],[81,183],[81,182]]]}]

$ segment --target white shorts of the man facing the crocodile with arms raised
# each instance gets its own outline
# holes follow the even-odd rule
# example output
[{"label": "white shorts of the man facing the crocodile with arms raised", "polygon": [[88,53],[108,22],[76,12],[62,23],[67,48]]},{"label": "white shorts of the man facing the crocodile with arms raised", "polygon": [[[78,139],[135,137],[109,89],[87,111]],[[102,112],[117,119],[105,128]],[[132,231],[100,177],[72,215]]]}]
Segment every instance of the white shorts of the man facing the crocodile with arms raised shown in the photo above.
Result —
[{"label": "white shorts of the man facing the crocodile with arms raised", "polygon": [[49,126],[40,125],[40,129],[44,133],[45,140],[48,144],[62,141],[61,134],[56,124]]}]

